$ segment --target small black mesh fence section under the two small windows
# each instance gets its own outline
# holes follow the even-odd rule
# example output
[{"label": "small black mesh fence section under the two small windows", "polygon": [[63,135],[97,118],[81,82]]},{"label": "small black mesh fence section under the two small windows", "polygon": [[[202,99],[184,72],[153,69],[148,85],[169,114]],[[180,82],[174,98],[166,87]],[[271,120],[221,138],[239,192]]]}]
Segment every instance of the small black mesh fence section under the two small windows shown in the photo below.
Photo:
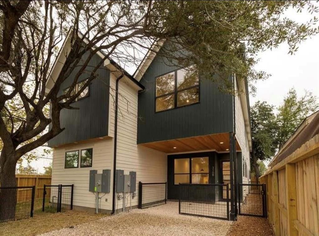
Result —
[{"label": "small black mesh fence section under the two small windows", "polygon": [[74,185],[44,185],[42,211],[64,212],[73,209]]}]

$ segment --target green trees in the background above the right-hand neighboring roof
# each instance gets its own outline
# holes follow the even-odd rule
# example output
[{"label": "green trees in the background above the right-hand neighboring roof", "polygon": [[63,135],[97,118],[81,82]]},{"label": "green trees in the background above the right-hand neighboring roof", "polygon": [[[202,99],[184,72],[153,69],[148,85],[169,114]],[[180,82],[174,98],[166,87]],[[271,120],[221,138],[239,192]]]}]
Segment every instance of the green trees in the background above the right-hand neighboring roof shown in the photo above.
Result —
[{"label": "green trees in the background above the right-hand neighboring roof", "polygon": [[[271,159],[283,144],[293,135],[301,122],[319,108],[318,98],[311,92],[297,96],[294,88],[290,89],[283,104],[275,107],[267,102],[257,101],[250,108],[253,153],[251,166],[263,168],[260,163]],[[258,174],[257,174],[258,175]]]}]

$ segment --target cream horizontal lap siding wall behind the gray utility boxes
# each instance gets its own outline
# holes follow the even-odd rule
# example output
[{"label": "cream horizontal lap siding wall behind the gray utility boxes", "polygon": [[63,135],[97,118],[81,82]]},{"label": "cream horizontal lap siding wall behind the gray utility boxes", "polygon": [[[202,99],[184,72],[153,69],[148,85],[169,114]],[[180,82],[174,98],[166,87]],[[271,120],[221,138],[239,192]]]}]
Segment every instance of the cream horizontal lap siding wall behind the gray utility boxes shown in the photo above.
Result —
[{"label": "cream horizontal lap siding wall behind the gray utility boxes", "polygon": [[[95,208],[95,196],[89,192],[89,172],[98,170],[98,173],[102,173],[103,169],[110,169],[111,191],[106,195],[101,193],[100,196],[104,195],[101,199],[101,209],[112,210],[115,81],[116,77],[111,73],[108,124],[110,137],[54,148],[52,184],[74,184],[74,206]],[[119,82],[116,169],[124,170],[124,174],[136,171],[136,197],[131,200],[132,206],[137,205],[138,201],[138,181],[167,181],[166,153],[137,145],[137,97],[138,92],[123,77]],[[66,151],[86,148],[93,148],[92,167],[64,168]],[[127,207],[129,207],[130,198],[127,199]],[[122,208],[122,200],[118,202],[116,200],[115,208]]]}]

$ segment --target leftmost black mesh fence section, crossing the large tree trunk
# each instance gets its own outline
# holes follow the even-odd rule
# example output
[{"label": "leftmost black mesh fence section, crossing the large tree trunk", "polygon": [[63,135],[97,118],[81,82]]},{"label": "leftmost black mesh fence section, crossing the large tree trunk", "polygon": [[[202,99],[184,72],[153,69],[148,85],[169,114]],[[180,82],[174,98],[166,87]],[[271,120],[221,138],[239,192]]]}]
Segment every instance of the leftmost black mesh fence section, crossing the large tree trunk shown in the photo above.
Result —
[{"label": "leftmost black mesh fence section, crossing the large tree trunk", "polygon": [[[26,191],[26,190],[31,190],[31,191]],[[8,213],[5,219],[0,218],[0,221],[18,220],[18,219],[33,217],[35,186],[0,187],[0,192],[2,195],[16,195],[16,196],[19,195],[19,202],[16,203],[15,213],[14,214]],[[4,210],[7,210],[7,209],[4,209]]]}]

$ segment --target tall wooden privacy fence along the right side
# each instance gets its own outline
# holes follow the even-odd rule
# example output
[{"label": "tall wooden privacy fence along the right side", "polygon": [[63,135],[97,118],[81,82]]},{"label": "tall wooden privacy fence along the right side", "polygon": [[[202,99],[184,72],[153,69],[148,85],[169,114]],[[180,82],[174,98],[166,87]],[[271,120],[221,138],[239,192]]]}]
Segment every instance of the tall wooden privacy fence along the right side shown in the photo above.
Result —
[{"label": "tall wooden privacy fence along the right side", "polygon": [[319,135],[259,178],[275,235],[319,235]]}]

